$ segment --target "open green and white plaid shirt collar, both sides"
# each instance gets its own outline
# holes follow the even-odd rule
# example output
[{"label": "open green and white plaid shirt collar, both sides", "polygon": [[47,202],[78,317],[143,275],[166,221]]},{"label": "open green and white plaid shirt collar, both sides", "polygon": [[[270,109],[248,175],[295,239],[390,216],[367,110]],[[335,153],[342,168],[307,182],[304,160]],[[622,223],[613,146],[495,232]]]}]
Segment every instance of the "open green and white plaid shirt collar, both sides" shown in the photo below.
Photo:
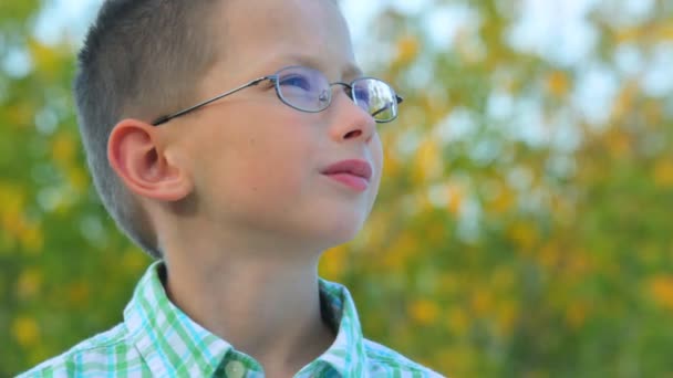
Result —
[{"label": "open green and white plaid shirt collar, both sides", "polygon": [[[210,377],[234,347],[190,319],[166,296],[165,265],[153,263],[124,311],[124,324],[153,376]],[[328,364],[341,377],[365,371],[366,354],[360,319],[349,291],[319,280],[323,319],[336,332],[334,343],[301,372]]]}]

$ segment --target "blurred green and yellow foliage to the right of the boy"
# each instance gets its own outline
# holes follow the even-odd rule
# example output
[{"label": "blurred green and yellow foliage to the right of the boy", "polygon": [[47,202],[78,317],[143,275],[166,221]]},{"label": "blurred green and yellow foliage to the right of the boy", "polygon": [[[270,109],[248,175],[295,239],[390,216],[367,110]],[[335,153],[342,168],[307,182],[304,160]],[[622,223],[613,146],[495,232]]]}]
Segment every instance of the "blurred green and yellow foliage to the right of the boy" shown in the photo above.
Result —
[{"label": "blurred green and yellow foliage to the right of the boy", "polygon": [[407,101],[367,229],[322,267],[373,338],[456,377],[673,372],[672,21],[436,0],[372,22],[363,61]]}]

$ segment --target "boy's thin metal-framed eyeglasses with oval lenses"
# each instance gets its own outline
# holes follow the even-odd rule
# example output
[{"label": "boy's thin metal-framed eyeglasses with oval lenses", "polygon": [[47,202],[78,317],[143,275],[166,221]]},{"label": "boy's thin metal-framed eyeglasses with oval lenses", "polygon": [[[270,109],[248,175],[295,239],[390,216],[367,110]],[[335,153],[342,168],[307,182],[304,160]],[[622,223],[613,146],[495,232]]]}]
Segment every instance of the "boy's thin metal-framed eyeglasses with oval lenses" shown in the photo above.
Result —
[{"label": "boy's thin metal-framed eyeglasses with oval lenses", "polygon": [[247,84],[225,92],[199,104],[179,111],[177,113],[159,117],[152,125],[158,126],[194,112],[201,106],[224,98],[238,91],[270,81],[276,87],[278,98],[286,105],[307,113],[319,113],[328,108],[332,103],[332,86],[341,85],[348,90],[346,95],[367,112],[376,123],[389,123],[397,117],[397,105],[403,98],[384,81],[375,77],[360,77],[349,83],[330,83],[318,70],[304,66],[289,66],[278,71],[273,75],[256,78]]}]

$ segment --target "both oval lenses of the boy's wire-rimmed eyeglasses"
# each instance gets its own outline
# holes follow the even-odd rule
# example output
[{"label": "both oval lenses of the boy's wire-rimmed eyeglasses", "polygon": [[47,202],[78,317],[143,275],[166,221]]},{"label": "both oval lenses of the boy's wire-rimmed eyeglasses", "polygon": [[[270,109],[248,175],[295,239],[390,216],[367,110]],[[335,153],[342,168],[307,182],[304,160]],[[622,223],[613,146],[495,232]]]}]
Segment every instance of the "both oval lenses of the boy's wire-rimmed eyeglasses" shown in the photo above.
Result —
[{"label": "both oval lenses of the boy's wire-rimmed eyeglasses", "polygon": [[[363,77],[351,83],[353,102],[375,120],[389,122],[397,116],[397,96],[385,82]],[[321,112],[332,101],[328,78],[318,70],[292,66],[276,74],[279,97],[289,106],[303,112]]]}]

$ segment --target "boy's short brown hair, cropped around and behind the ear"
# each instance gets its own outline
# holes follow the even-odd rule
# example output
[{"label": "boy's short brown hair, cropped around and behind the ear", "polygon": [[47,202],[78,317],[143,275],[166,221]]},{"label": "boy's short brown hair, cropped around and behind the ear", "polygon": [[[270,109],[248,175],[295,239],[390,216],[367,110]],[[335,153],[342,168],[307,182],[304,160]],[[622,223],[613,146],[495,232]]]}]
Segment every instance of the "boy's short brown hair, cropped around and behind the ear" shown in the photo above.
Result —
[{"label": "boy's short brown hair, cropped around and behind the ear", "polygon": [[106,0],[79,54],[74,96],[95,188],[117,227],[154,258],[162,251],[144,210],[107,160],[117,122],[154,118],[194,101],[216,60],[218,0]]}]

